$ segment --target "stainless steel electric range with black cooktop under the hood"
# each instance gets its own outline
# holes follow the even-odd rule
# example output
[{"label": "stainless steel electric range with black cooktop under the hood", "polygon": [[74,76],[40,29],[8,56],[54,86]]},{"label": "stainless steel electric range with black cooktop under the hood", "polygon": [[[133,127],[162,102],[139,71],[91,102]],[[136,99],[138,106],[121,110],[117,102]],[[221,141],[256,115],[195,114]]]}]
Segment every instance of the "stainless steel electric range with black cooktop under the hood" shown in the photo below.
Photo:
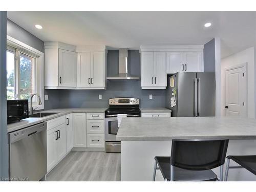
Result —
[{"label": "stainless steel electric range with black cooktop under the hood", "polygon": [[109,109],[105,111],[105,148],[106,152],[121,152],[121,142],[116,140],[118,131],[117,114],[127,117],[140,117],[138,98],[111,98]]}]

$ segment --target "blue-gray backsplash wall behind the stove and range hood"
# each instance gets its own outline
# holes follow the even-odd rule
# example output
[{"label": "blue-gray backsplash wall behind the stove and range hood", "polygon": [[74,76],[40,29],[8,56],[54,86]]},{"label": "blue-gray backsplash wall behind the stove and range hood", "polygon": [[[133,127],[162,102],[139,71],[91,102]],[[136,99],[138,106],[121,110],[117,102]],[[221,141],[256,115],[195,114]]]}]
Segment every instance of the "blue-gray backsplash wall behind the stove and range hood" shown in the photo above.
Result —
[{"label": "blue-gray backsplash wall behind the stove and range hood", "polygon": [[[118,73],[118,51],[109,51],[107,70],[108,76]],[[140,54],[138,50],[128,51],[129,72],[140,76]],[[46,90],[49,100],[45,101],[45,109],[106,107],[112,97],[140,98],[142,107],[164,107],[165,90],[142,90],[140,81],[109,81],[106,90]],[[98,99],[99,94],[102,99]],[[149,94],[153,99],[149,99]]]}]

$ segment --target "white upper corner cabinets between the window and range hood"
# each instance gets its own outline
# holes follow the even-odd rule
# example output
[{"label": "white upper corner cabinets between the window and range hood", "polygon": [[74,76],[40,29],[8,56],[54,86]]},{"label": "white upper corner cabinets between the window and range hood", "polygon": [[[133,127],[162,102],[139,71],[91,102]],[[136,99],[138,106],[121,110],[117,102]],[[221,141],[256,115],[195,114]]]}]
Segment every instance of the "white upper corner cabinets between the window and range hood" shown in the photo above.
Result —
[{"label": "white upper corner cabinets between the window and range hood", "polygon": [[106,89],[105,46],[45,42],[46,89]]}]

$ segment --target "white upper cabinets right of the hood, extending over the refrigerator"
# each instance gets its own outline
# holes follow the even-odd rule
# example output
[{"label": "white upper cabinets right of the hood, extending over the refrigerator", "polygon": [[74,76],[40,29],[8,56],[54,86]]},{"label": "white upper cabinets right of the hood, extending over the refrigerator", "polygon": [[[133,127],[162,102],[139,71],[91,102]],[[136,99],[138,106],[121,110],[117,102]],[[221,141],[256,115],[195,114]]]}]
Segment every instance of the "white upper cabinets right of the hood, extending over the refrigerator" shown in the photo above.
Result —
[{"label": "white upper cabinets right of the hood, extending over the refrigerator", "polygon": [[165,89],[166,73],[203,72],[203,46],[140,46],[141,88]]}]

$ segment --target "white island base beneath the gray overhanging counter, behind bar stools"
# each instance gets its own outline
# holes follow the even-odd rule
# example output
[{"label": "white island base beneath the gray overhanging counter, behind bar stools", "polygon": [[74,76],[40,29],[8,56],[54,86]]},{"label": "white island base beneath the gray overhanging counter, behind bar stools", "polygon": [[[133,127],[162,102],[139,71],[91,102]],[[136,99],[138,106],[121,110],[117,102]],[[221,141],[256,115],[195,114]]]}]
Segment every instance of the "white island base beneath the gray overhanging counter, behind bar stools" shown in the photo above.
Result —
[{"label": "white island base beneath the gray overhanging counter, behind bar stools", "polygon": [[[172,141],[121,141],[121,181],[152,181],[155,156],[170,156]],[[229,140],[228,155],[256,155],[256,140]],[[230,166],[238,166],[230,160]],[[224,175],[225,175],[224,165]],[[213,171],[219,177],[220,168]],[[156,181],[163,181],[157,170]],[[256,181],[246,169],[229,169],[228,181]]]}]

